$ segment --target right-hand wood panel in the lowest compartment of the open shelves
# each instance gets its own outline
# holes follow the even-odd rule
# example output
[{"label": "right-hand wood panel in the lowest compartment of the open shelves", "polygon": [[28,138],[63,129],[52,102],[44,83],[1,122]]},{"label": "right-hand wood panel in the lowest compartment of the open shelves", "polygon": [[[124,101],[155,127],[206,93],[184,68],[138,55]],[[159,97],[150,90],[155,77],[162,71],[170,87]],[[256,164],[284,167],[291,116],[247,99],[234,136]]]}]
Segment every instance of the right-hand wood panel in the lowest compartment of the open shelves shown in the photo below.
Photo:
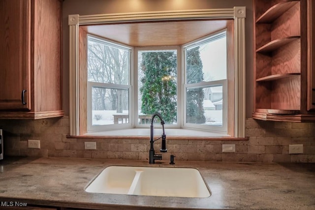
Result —
[{"label": "right-hand wood panel in the lowest compartment of the open shelves", "polygon": [[272,89],[272,109],[300,110],[300,76],[277,80],[273,82]]}]

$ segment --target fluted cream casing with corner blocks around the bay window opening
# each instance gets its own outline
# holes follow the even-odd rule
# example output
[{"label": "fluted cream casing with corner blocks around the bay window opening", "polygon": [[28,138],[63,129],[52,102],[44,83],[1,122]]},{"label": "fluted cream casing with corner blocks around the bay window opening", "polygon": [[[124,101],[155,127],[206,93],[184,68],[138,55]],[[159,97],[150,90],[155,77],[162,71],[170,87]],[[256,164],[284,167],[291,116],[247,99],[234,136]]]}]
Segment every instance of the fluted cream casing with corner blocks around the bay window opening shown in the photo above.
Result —
[{"label": "fluted cream casing with corner blocks around the bay window opening", "polygon": [[[69,15],[69,119],[71,136],[80,135],[79,126],[79,26],[105,23],[159,20],[234,19],[235,121],[234,137],[245,137],[245,18],[246,7],[224,9],[136,12],[100,15]],[[132,78],[131,78],[132,79]]]}]

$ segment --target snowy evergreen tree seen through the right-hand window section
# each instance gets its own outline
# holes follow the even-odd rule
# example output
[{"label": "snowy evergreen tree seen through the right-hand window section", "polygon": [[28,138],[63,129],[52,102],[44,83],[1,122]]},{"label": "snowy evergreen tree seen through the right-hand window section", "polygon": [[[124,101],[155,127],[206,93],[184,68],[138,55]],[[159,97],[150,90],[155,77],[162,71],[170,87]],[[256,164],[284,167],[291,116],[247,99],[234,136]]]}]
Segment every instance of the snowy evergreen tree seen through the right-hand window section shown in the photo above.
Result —
[{"label": "snowy evergreen tree seen through the right-hand window section", "polygon": [[[191,48],[186,53],[186,80],[187,84],[203,81],[199,47]],[[204,92],[202,88],[189,89],[186,98],[187,122],[196,124],[205,123],[206,117],[203,109]]]}]

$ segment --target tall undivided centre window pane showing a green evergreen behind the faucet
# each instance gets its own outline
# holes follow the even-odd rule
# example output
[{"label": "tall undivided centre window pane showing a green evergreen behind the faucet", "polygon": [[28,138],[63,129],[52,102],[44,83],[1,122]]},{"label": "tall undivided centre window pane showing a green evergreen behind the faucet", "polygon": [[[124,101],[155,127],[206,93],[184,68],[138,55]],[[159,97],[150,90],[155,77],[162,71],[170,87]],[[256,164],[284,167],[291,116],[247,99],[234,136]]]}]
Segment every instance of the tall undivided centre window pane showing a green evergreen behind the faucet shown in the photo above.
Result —
[{"label": "tall undivided centre window pane showing a green evergreen behind the faucet", "polygon": [[156,112],[165,124],[177,123],[176,50],[138,52],[139,124]]}]

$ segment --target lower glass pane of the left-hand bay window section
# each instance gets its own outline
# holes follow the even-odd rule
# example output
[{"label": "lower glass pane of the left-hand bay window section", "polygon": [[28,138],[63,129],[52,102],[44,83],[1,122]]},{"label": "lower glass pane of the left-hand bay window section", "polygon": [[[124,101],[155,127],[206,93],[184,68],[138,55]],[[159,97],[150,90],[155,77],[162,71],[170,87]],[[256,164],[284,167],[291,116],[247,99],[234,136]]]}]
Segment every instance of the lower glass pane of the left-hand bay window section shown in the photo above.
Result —
[{"label": "lower glass pane of the left-hand bay window section", "polygon": [[128,123],[128,90],[92,88],[92,125]]}]

